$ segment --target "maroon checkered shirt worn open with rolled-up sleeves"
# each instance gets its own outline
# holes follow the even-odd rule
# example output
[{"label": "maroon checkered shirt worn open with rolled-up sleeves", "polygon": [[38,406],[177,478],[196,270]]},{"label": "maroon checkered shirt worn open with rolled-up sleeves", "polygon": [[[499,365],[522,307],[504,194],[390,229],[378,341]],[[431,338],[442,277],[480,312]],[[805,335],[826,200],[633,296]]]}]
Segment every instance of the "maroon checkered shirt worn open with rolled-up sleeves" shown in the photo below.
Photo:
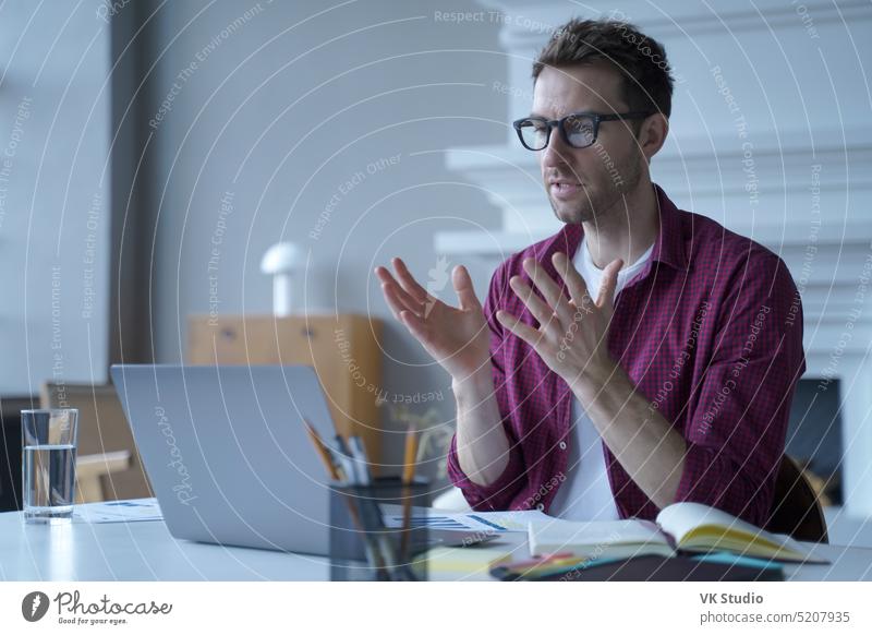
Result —
[{"label": "maroon checkered shirt worn open with rolled-up sleeves", "polygon": [[[806,370],[799,293],[777,255],[710,218],[677,209],[655,188],[659,236],[645,267],[615,300],[608,350],[651,410],[687,442],[676,502],[704,503],[762,526],[794,387]],[[510,256],[491,280],[484,311],[511,450],[505,471],[482,487],[460,468],[457,436],[451,441],[449,477],[475,510],[547,512],[566,480],[573,394],[532,347],[499,324],[496,311],[538,327],[509,278],[521,276],[533,287],[521,266],[532,256],[566,292],[552,254],[565,251],[571,259],[582,238],[581,225],[566,225]],[[653,519],[658,507],[605,443],[603,452],[620,516]]]}]

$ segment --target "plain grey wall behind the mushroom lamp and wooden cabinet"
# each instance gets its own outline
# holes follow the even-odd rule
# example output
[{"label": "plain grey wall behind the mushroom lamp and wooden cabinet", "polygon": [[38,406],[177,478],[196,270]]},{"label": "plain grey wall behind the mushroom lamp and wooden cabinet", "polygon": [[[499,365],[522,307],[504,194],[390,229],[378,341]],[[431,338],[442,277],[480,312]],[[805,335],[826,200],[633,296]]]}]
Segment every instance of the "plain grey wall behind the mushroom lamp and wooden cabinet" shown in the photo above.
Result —
[{"label": "plain grey wall behind the mushroom lamp and wooden cabinet", "polygon": [[[448,375],[393,322],[372,269],[400,255],[427,280],[435,231],[498,226],[443,151],[506,137],[505,96],[493,89],[506,74],[499,25],[444,23],[432,3],[388,1],[174,2],[154,21],[140,189],[158,214],[156,359],[183,359],[185,320],[210,302],[220,315],[269,312],[259,259],[293,240],[312,262],[305,302],[385,317],[385,391],[441,391],[431,405],[452,420]],[[450,281],[441,297],[456,301]]]}]

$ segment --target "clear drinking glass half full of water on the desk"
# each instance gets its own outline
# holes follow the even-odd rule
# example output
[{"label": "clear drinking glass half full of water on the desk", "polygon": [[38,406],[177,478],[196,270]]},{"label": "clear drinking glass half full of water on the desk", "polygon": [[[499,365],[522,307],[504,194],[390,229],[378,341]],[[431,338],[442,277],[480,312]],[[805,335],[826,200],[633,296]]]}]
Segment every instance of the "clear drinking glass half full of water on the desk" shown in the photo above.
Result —
[{"label": "clear drinking glass half full of water on the desk", "polygon": [[78,410],[22,410],[25,523],[66,523],[75,501]]}]

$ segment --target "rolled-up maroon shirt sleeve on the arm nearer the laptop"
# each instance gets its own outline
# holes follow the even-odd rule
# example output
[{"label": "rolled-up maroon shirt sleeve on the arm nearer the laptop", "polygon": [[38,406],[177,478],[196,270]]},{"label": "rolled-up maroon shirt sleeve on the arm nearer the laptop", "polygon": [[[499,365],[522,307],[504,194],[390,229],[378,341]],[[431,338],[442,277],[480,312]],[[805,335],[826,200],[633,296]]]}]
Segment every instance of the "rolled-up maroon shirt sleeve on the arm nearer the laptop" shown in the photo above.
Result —
[{"label": "rolled-up maroon shirt sleeve on the arm nearer the laptop", "polygon": [[502,263],[491,278],[487,298],[484,302],[484,315],[491,331],[491,362],[493,367],[494,390],[497,404],[502,417],[502,429],[509,441],[509,463],[502,474],[492,483],[480,486],[469,479],[460,467],[457,454],[457,433],[451,439],[448,452],[448,477],[451,482],[460,488],[467,502],[476,511],[504,511],[509,510],[511,502],[524,484],[526,477],[523,466],[523,456],[518,439],[512,433],[509,412],[509,399],[506,388],[506,372],[502,355],[505,330],[496,319],[496,311],[502,307],[501,293],[506,292],[507,263]]}]

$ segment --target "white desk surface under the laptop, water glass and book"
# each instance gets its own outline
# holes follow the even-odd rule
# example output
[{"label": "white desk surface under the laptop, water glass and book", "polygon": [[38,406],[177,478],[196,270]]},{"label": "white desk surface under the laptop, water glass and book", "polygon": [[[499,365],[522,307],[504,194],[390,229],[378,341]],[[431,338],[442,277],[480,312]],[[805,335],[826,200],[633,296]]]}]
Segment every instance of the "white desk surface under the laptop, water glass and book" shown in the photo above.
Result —
[{"label": "white desk surface under the laptop, water glass and book", "polygon": [[[523,540],[523,534],[509,535]],[[832,565],[785,567],[794,580],[872,580],[872,549],[815,546]],[[158,520],[40,526],[0,514],[0,580],[327,580],[324,558],[175,540]]]}]

